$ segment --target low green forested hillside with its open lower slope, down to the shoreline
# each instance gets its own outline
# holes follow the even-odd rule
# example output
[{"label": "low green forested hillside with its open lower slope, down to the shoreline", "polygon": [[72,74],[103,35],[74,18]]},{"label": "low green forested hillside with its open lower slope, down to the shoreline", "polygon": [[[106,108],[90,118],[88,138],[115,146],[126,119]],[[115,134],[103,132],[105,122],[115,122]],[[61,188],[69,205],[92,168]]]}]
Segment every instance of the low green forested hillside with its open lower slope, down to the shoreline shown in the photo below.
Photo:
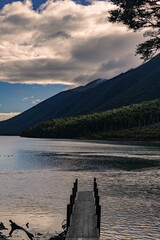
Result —
[{"label": "low green forested hillside with its open lower slope, down to the shoreline", "polygon": [[160,139],[160,99],[102,113],[53,119],[24,130],[22,136]]}]

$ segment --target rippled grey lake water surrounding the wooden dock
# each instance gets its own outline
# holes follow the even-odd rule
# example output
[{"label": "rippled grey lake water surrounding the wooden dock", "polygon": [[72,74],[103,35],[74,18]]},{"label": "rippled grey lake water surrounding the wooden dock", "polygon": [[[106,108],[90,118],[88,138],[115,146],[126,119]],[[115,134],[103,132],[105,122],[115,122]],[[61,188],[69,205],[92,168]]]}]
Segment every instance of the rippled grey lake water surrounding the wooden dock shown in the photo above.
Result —
[{"label": "rippled grey lake water surrounding the wooden dock", "polygon": [[0,222],[29,222],[43,234],[36,239],[49,239],[66,219],[75,178],[92,190],[94,177],[101,240],[160,239],[160,142],[0,137]]}]

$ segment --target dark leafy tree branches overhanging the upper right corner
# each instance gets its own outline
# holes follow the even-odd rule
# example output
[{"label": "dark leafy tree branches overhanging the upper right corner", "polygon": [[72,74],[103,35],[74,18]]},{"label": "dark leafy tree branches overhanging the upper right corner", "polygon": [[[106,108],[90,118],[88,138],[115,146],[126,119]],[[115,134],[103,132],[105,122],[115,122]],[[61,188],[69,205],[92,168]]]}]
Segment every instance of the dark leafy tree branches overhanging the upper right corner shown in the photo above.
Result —
[{"label": "dark leafy tree branches overhanging the upper right corner", "polygon": [[144,36],[150,40],[139,44],[136,54],[145,61],[160,49],[160,2],[157,0],[111,0],[117,5],[110,11],[111,22],[122,22],[134,31],[147,29]]}]

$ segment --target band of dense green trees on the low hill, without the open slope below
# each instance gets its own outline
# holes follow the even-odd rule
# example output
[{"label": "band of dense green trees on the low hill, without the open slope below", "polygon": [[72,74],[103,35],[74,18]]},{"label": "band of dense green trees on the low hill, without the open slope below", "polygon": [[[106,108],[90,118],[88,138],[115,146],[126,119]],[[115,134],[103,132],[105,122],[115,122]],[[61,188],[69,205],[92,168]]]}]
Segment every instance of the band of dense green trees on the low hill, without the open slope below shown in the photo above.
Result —
[{"label": "band of dense green trees on the low hill, without the open slope below", "polygon": [[21,136],[87,138],[93,134],[148,126],[160,122],[160,99],[101,113],[53,119],[24,130]]}]

